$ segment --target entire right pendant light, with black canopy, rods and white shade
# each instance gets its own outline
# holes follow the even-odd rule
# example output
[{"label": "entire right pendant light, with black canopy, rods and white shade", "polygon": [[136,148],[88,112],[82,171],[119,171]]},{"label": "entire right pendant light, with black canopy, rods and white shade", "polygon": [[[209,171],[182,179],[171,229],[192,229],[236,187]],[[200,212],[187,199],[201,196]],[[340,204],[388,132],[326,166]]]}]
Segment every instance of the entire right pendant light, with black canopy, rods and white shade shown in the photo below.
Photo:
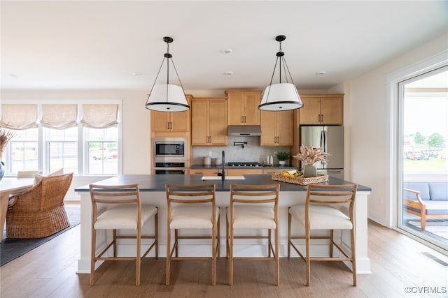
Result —
[{"label": "entire right pendant light, with black canopy, rods and white shade", "polygon": [[[281,42],[286,39],[286,36],[276,36],[275,40],[280,43],[279,52],[276,52],[276,61],[274,65],[274,72],[272,73],[271,82],[266,87],[258,109],[265,111],[286,111],[295,110],[303,107],[302,100],[300,100],[299,92],[295,88],[293,77],[289,72],[288,65],[285,60],[285,53],[281,51]],[[274,79],[275,69],[279,64],[279,84],[272,84]],[[283,68],[283,69],[282,69]],[[284,72],[286,82],[281,82],[281,75]],[[289,77],[288,77],[289,76]]]}]

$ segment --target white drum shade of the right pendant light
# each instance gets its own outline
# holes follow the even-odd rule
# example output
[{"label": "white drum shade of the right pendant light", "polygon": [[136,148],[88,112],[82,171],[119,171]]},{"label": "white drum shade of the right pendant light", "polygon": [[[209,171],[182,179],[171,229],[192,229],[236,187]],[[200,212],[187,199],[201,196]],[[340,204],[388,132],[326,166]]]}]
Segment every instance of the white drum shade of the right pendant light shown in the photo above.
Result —
[{"label": "white drum shade of the right pendant light", "polygon": [[258,108],[265,111],[286,111],[300,109],[302,106],[294,84],[279,83],[266,87]]}]

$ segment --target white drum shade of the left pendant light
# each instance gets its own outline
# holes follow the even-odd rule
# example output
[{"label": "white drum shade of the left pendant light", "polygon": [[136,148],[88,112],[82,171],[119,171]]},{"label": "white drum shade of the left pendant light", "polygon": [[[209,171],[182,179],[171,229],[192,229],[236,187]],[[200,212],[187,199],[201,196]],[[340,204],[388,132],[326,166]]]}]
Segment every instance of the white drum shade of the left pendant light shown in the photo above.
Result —
[{"label": "white drum shade of the left pendant light", "polygon": [[190,109],[183,89],[174,84],[157,84],[146,102],[146,108],[160,112],[184,112]]}]

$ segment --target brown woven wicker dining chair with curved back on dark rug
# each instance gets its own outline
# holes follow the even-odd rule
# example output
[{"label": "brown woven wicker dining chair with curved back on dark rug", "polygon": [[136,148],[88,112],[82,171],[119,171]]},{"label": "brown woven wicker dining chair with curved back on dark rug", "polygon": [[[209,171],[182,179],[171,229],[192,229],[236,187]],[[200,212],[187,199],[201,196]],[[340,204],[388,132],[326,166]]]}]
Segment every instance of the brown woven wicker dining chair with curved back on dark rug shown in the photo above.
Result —
[{"label": "brown woven wicker dining chair with curved back on dark rug", "polygon": [[42,177],[15,195],[6,213],[6,237],[42,238],[69,227],[64,198],[72,179],[73,173]]}]

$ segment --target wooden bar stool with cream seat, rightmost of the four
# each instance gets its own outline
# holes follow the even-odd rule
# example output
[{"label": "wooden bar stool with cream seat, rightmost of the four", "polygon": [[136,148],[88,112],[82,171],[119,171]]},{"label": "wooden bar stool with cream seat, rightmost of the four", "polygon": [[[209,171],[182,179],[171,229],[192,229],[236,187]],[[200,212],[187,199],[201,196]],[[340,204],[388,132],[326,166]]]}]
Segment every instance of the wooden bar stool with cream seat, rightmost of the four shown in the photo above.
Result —
[{"label": "wooden bar stool with cream seat, rightmost of the four", "polygon": [[[353,271],[353,285],[356,285],[356,253],[355,253],[355,221],[354,204],[356,184],[324,185],[309,184],[305,204],[289,207],[288,211],[288,258],[291,246],[307,262],[307,285],[311,278],[311,261],[349,261]],[[304,226],[305,236],[291,236],[291,219]],[[311,230],[329,230],[328,236],[311,236]],[[351,255],[348,255],[334,241],[334,230],[350,230]],[[305,256],[300,253],[291,239],[305,239]],[[311,257],[311,239],[329,239],[329,257]],[[337,248],[339,256],[333,257],[333,248]]]}]

